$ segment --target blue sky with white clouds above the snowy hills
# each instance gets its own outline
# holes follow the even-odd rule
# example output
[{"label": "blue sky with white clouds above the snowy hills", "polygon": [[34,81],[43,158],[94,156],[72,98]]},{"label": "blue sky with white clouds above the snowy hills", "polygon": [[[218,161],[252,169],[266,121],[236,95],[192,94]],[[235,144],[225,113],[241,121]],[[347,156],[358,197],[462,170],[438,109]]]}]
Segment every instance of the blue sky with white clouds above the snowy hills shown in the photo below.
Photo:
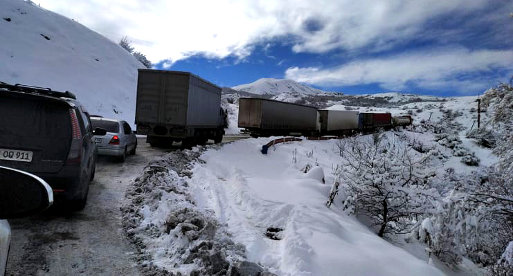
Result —
[{"label": "blue sky with white clouds above the snowy hills", "polygon": [[39,0],[219,86],[477,95],[513,75],[509,0]]}]

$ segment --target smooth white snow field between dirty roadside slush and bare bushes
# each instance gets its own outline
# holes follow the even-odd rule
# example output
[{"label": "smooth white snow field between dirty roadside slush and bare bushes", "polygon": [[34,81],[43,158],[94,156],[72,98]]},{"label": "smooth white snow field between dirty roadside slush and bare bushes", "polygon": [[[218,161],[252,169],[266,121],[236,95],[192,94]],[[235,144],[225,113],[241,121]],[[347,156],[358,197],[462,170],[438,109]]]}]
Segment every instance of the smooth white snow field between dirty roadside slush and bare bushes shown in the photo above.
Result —
[{"label": "smooth white snow field between dirty roadside slush and bare bushes", "polygon": [[[206,163],[192,169],[196,201],[227,223],[250,261],[277,275],[444,275],[377,237],[341,211],[339,202],[325,206],[331,187],[319,178],[339,162],[336,141],[279,144],[263,155],[259,149],[267,140],[208,149],[201,156]],[[302,171],[306,164],[314,166],[311,174]],[[333,175],[325,178],[334,181]],[[283,229],[280,241],[264,237],[270,227]]]}]

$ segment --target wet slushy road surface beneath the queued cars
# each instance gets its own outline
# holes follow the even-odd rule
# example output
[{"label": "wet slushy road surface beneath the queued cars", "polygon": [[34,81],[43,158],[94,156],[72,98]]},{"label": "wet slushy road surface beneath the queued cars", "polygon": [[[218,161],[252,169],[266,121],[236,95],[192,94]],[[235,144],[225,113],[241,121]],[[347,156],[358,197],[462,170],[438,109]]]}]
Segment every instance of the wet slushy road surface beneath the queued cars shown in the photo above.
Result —
[{"label": "wet slushy road surface beneath the queued cars", "polygon": [[[227,136],[224,142],[243,137]],[[125,163],[101,157],[82,212],[45,212],[10,220],[12,243],[7,275],[139,275],[134,248],[121,227],[125,191],[156,158],[179,149],[156,149],[138,138],[136,156]]]}]

